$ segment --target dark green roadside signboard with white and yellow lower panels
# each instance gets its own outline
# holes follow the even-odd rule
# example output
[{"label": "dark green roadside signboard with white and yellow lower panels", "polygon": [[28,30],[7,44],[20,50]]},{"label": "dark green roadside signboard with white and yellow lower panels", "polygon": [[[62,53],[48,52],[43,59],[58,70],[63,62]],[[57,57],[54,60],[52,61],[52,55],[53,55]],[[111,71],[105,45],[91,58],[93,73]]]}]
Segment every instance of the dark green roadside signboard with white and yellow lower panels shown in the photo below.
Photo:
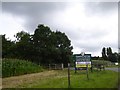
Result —
[{"label": "dark green roadside signboard with white and yellow lower panels", "polygon": [[91,67],[91,54],[76,54],[75,59],[76,68]]}]

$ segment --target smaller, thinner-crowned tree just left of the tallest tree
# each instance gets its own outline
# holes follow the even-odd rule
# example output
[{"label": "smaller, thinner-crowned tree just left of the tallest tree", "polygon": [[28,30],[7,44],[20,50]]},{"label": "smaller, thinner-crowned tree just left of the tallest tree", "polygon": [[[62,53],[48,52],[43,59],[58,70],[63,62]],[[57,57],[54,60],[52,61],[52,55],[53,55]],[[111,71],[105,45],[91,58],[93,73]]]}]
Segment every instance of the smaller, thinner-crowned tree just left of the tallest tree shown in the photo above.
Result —
[{"label": "smaller, thinner-crowned tree just left of the tallest tree", "polygon": [[24,31],[18,32],[15,36],[17,38],[15,46],[15,55],[20,59],[31,59],[32,55],[32,36]]}]

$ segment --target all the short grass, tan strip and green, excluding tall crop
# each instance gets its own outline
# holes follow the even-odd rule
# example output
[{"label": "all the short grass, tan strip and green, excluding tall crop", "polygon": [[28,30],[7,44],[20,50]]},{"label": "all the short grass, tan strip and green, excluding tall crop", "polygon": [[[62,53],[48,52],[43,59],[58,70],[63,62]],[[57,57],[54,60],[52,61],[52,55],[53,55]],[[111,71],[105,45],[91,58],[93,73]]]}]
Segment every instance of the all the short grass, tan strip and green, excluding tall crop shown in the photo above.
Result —
[{"label": "all the short grass, tan strip and green, excluding tall crop", "polygon": [[[86,71],[70,74],[71,88],[115,88],[118,83],[118,73],[108,70],[89,72],[89,80]],[[67,69],[3,78],[3,88],[68,88]]]}]

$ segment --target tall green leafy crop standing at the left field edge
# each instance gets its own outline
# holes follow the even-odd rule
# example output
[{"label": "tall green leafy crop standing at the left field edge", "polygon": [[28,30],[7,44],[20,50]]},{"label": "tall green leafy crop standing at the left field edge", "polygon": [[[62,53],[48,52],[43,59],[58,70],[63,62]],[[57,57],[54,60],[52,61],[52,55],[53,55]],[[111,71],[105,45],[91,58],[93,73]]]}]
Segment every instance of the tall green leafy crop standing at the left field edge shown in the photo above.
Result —
[{"label": "tall green leafy crop standing at the left field edge", "polygon": [[41,72],[41,66],[32,62],[18,59],[2,59],[2,77],[23,75],[34,72]]}]

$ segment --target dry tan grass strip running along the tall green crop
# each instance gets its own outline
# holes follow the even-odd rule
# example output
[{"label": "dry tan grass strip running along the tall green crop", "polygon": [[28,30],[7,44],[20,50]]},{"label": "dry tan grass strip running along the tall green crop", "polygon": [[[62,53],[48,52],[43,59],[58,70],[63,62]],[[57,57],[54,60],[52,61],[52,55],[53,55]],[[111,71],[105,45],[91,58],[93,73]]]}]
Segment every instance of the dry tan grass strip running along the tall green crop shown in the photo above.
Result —
[{"label": "dry tan grass strip running along the tall green crop", "polygon": [[43,78],[48,78],[50,76],[54,76],[57,73],[54,70],[44,71],[40,73],[20,75],[14,77],[8,77],[2,79],[2,88],[14,88],[20,86],[22,83],[33,83],[36,80],[41,80]]}]

